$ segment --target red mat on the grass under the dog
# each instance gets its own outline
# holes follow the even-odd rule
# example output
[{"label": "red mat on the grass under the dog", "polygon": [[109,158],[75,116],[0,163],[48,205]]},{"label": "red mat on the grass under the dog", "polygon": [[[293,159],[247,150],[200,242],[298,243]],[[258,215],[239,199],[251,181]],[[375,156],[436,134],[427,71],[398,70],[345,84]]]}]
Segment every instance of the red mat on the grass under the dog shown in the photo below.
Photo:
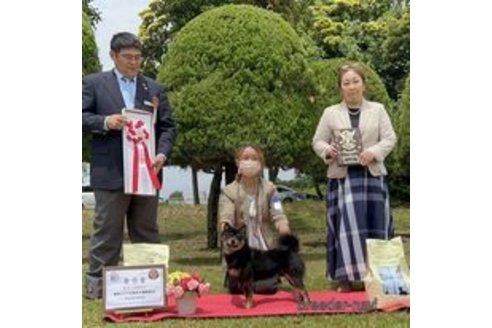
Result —
[{"label": "red mat on the grass under the dog", "polygon": [[[209,294],[198,298],[197,313],[181,316],[173,297],[168,298],[166,312],[134,315],[108,314],[105,318],[113,322],[159,321],[166,318],[229,318],[298,314],[364,313],[376,310],[375,301],[369,301],[366,292],[337,293],[334,291],[309,292],[311,303],[298,304],[292,293],[278,292],[275,295],[255,295],[255,306],[245,309],[244,296]],[[397,304],[382,309],[385,312],[409,308],[410,304]]]}]

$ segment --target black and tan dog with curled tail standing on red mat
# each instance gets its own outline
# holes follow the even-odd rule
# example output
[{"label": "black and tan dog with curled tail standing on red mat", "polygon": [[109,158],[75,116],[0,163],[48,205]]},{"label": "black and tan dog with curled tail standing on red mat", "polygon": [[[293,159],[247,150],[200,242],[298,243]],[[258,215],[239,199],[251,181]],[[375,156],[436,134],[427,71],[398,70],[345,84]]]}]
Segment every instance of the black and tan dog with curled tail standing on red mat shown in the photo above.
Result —
[{"label": "black and tan dog with curled tail standing on red mat", "polygon": [[230,276],[238,279],[246,302],[244,306],[253,306],[253,284],[257,280],[282,276],[295,288],[298,300],[309,302],[304,286],[305,266],[299,256],[299,240],[294,235],[281,235],[279,247],[267,251],[252,249],[248,246],[247,229],[243,224],[239,228],[225,224],[221,233],[223,252]]}]

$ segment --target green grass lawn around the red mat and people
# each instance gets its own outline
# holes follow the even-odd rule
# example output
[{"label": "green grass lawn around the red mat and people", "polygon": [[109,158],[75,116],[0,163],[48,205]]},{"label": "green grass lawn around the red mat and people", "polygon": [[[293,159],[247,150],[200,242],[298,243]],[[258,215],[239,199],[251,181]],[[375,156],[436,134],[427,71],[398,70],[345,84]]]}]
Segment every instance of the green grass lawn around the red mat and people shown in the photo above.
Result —
[{"label": "green grass lawn around the red mat and people", "polygon": [[[325,278],[325,204],[324,202],[299,202],[286,204],[291,229],[301,240],[301,254],[306,262],[305,283],[308,290],[333,289]],[[89,239],[92,230],[92,210],[82,211],[82,270],[87,269]],[[405,255],[410,265],[410,210],[394,208],[395,231],[403,236]],[[206,206],[161,205],[159,228],[162,243],[171,249],[169,272],[191,271],[197,268],[212,284],[211,293],[224,293],[223,271],[217,251],[206,249]],[[126,239],[126,242],[129,242]],[[291,290],[286,283],[282,289]],[[83,286],[81,288],[83,291]],[[82,293],[83,294],[83,293]],[[83,298],[83,296],[81,295]],[[168,319],[156,323],[108,324],[102,321],[101,301],[82,301],[83,327],[409,327],[409,311],[369,314],[331,314],[285,317],[233,318],[233,319]]]}]

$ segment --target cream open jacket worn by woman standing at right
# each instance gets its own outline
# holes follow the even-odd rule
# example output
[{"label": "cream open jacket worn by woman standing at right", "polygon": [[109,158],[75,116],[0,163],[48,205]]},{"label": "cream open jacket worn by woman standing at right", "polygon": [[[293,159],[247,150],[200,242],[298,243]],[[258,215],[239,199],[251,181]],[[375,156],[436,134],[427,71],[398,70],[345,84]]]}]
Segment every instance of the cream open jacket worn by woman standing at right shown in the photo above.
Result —
[{"label": "cream open jacket worn by woman standing at right", "polygon": [[[331,151],[333,129],[351,128],[347,105],[340,104],[325,109],[313,137],[312,146],[315,153],[328,164],[327,176],[339,179],[347,174],[347,166],[338,166],[332,158],[327,158]],[[362,101],[359,129],[362,134],[362,147],[375,155],[375,160],[368,165],[373,176],[388,174],[384,159],[396,144],[396,135],[384,106],[377,102]]]}]

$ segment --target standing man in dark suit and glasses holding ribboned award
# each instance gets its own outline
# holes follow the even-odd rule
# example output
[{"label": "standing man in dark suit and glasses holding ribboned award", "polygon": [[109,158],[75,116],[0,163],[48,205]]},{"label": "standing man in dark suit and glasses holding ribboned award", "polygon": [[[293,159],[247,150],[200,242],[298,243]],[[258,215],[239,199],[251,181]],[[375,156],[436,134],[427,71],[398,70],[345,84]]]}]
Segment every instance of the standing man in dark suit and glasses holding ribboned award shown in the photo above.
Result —
[{"label": "standing man in dark suit and glasses holding ribboned award", "polygon": [[123,108],[156,110],[156,156],[159,172],[167,161],[176,135],[166,91],[140,74],[141,44],[127,32],[111,39],[114,69],[82,79],[82,130],[91,133],[91,185],[96,208],[91,236],[89,269],[85,274],[85,296],[100,298],[102,269],[117,265],[126,216],[132,243],[159,243],[158,195],[135,196],[123,192]]}]

